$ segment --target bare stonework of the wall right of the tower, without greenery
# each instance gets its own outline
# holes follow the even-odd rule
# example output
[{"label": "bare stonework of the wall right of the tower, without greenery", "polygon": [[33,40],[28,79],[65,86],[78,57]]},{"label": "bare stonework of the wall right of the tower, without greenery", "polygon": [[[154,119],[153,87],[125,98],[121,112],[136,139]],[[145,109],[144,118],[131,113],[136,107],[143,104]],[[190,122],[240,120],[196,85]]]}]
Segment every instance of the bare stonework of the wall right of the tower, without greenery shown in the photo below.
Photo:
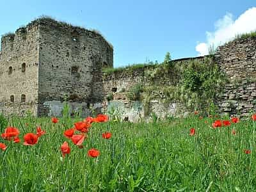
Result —
[{"label": "bare stonework of the wall right of the tower, without greenery", "polygon": [[[206,56],[208,59],[211,57]],[[256,37],[240,38],[218,47],[214,55],[214,63],[220,66],[221,72],[229,80],[223,87],[223,92],[218,94],[215,104],[218,112],[222,115],[241,115],[249,116],[250,113],[256,111]],[[173,60],[175,65],[186,65],[191,60],[204,60],[205,57],[184,58]],[[129,101],[124,93],[120,90],[129,90],[132,86],[141,83],[148,86],[147,71],[150,67],[137,68],[136,70],[123,70],[105,74],[103,79],[104,95],[113,93],[114,99],[108,101],[105,106],[106,111],[111,111],[113,106],[118,107],[121,111],[121,118],[129,118],[134,121],[138,120],[138,116],[145,117],[145,108],[141,102]],[[151,70],[154,70],[152,67]],[[152,79],[151,79],[152,80]],[[179,80],[179,74],[168,72],[163,76],[154,79],[155,84],[159,86],[172,86]],[[119,96],[120,95],[120,96]],[[180,113],[186,113],[184,107],[179,103],[170,102],[163,104],[161,97],[164,95],[153,90],[150,96],[156,95],[156,99],[148,100],[148,107],[151,113],[155,113],[159,117],[167,115],[177,116]],[[158,99],[157,99],[158,97]],[[191,112],[191,111],[190,111]],[[134,113],[136,115],[134,116]]]}]

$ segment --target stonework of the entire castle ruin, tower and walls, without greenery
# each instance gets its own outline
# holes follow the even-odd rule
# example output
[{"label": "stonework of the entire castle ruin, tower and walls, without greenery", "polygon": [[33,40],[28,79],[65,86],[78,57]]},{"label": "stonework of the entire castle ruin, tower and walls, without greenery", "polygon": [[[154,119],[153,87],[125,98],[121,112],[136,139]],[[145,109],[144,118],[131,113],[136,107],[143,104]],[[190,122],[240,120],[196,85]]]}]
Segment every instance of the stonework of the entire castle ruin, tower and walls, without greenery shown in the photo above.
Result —
[{"label": "stonework of the entire castle ruin, tower and walls, without greenery", "polygon": [[[206,57],[173,63],[187,65]],[[239,111],[241,116],[256,111],[256,37],[228,42],[218,47],[213,58],[230,80],[216,99],[218,111],[226,115]],[[83,116],[93,108],[116,113],[125,120],[145,118],[145,103],[129,100],[125,92],[138,83],[150,84],[147,73],[155,69],[145,66],[105,73],[104,67],[113,68],[113,47],[102,35],[49,18],[36,19],[15,34],[1,38],[0,112],[61,116],[67,100],[71,110],[80,111]],[[170,72],[154,81],[160,86],[173,86],[177,77]],[[154,90],[152,95],[156,97],[148,97],[147,113],[164,117],[182,111],[179,103],[163,104],[161,92]]]}]

